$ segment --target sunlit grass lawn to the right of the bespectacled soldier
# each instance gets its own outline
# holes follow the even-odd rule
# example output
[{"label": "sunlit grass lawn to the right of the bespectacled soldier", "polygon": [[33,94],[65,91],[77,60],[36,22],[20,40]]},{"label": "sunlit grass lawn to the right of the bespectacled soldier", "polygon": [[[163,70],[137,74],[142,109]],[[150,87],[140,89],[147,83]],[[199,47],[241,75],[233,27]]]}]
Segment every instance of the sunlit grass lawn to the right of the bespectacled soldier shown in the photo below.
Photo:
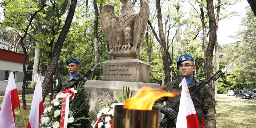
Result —
[{"label": "sunlit grass lawn to the right of the bespectacled soldier", "polygon": [[255,112],[255,101],[217,97],[217,128],[254,128]]}]

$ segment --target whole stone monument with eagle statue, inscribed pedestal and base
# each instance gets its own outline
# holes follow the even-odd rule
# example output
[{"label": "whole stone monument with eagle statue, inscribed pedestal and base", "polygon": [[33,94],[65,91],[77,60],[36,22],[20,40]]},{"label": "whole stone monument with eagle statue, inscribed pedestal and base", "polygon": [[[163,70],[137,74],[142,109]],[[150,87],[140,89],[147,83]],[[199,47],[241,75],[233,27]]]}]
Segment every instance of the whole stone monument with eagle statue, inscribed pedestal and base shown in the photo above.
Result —
[{"label": "whole stone monument with eagle statue, inscribed pedestal and base", "polygon": [[122,90],[124,86],[136,93],[142,86],[160,88],[159,84],[149,83],[150,65],[138,60],[149,16],[148,1],[140,0],[138,14],[130,0],[120,2],[123,4],[120,16],[115,14],[113,4],[106,4],[101,10],[101,29],[111,48],[108,53],[115,60],[102,63],[102,81],[88,80],[85,83],[90,110],[113,100],[111,89]]}]

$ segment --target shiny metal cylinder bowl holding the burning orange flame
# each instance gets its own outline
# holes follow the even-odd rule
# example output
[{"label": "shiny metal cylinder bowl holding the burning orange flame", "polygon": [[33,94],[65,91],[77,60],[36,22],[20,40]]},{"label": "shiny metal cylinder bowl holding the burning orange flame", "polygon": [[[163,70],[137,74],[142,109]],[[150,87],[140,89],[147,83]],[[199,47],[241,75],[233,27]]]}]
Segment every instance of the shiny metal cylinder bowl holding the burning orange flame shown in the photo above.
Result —
[{"label": "shiny metal cylinder bowl holding the burning orange flame", "polygon": [[115,106],[113,128],[158,128],[159,110],[124,109],[123,105]]}]

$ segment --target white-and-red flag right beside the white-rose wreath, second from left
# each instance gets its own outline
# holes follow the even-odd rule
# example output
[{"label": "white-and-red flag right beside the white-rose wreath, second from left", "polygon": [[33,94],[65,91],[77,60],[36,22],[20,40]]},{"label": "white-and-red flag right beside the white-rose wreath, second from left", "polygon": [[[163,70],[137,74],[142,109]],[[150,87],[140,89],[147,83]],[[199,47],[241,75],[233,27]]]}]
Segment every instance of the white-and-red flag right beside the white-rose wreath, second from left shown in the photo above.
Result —
[{"label": "white-and-red flag right beside the white-rose wreath, second from left", "polygon": [[38,128],[41,115],[43,112],[44,112],[44,106],[43,106],[43,95],[42,95],[42,80],[41,80],[41,74],[39,74],[37,79],[37,85],[35,86],[27,128]]}]

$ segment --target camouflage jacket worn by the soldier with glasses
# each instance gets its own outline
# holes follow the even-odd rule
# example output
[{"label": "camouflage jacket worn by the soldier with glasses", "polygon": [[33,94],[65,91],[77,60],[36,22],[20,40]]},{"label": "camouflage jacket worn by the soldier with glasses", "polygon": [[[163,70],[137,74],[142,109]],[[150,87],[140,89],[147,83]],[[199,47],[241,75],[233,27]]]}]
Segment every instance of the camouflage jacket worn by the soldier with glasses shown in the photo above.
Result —
[{"label": "camouflage jacket worn by the soldier with glasses", "polygon": [[[161,87],[162,90],[165,91],[172,91],[176,93],[176,97],[162,97],[158,99],[154,106],[157,107],[160,111],[162,107],[164,106],[162,103],[166,101],[166,106],[172,107],[174,104],[180,101],[181,97],[181,87],[179,87],[181,80],[180,78],[173,80],[171,82],[168,82],[166,85]],[[201,81],[196,80],[195,78],[191,81],[191,83],[188,85],[188,88],[198,86]],[[201,103],[198,103],[193,100],[193,104],[195,106],[195,110],[197,113],[197,117],[199,120],[200,125],[202,125],[202,116],[204,116],[204,127],[205,128],[215,128],[216,120],[215,120],[215,99],[214,96],[211,94],[209,88],[207,85],[202,87],[200,89],[200,94],[197,96],[199,101]],[[168,102],[167,102],[168,101]],[[174,122],[169,121],[167,128],[174,127]]]}]

